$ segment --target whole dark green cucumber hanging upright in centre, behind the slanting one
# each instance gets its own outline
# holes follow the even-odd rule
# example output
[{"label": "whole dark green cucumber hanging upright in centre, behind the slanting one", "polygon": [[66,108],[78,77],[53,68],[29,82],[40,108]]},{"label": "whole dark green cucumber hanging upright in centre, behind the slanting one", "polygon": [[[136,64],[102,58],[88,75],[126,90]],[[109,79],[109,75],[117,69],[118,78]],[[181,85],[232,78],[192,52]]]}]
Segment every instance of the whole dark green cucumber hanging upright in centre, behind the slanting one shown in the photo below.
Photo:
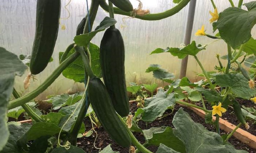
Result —
[{"label": "whole dark green cucumber hanging upright in centre, behind the slanting one", "polygon": [[99,51],[102,76],[116,112],[124,117],[129,114],[129,98],[124,71],[124,42],[118,29],[109,28],[104,33]]}]

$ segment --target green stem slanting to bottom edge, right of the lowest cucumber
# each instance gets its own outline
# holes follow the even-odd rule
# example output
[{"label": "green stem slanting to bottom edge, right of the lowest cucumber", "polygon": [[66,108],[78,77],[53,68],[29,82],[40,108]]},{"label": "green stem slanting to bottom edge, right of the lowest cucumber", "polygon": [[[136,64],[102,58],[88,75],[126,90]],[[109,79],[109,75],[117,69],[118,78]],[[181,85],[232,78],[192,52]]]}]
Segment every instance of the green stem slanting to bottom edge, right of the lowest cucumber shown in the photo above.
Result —
[{"label": "green stem slanting to bottom edge, right of the lowest cucumber", "polygon": [[[117,114],[118,115],[118,114]],[[123,118],[121,116],[118,115],[118,117],[120,118],[120,120],[123,122],[123,124],[125,125],[126,131],[128,132],[131,140],[132,140],[132,144],[134,146],[136,146],[138,148],[138,152],[142,152],[142,153],[152,153],[151,151],[147,150],[147,148],[145,148],[142,144],[139,143],[139,141],[134,137],[134,135],[132,134],[132,132],[130,131],[130,129],[127,127],[126,123],[124,122]],[[137,151],[136,151],[137,152]]]}]

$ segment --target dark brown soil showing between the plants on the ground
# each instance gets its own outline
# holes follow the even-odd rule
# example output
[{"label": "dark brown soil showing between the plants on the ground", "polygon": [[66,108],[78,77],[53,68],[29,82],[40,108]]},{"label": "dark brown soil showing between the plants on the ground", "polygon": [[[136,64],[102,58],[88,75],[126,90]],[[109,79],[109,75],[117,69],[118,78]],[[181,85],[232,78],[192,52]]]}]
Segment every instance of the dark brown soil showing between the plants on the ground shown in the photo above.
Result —
[{"label": "dark brown soil showing between the plants on the ground", "polygon": [[[161,127],[161,126],[169,126],[169,127],[174,128],[173,125],[172,125],[172,118],[173,118],[174,114],[179,110],[180,107],[181,106],[176,105],[172,114],[171,114],[170,110],[167,110],[166,113],[168,113],[169,115],[166,116],[165,118],[161,119],[161,120],[155,120],[155,121],[147,123],[147,124],[143,121],[139,121],[138,125],[141,129],[150,129],[151,127]],[[130,112],[132,114],[134,114],[134,112],[136,110],[137,110],[136,103],[131,103],[130,104]],[[215,127],[213,125],[206,124],[205,120],[203,118],[201,118],[200,116],[198,116],[196,113],[194,113],[192,110],[190,110],[186,107],[184,108],[184,110],[187,113],[189,113],[189,115],[194,120],[194,122],[201,123],[209,131],[215,131]],[[228,112],[225,115],[229,116]],[[233,116],[233,115],[231,115],[231,116]],[[230,118],[230,117],[228,117],[228,118]],[[89,120],[88,117],[85,118],[84,123],[85,123],[86,129],[91,129],[92,128],[91,124],[89,124],[90,120]],[[251,124],[250,124],[250,126],[251,126]],[[251,129],[255,130],[256,128],[254,126],[254,127],[251,127]],[[104,131],[104,129],[102,127],[99,128],[99,129],[96,129],[96,131],[98,133],[98,136],[97,136],[97,139],[96,139],[96,142],[95,142],[96,147],[104,148],[104,147],[108,146],[109,144],[111,144],[111,148],[112,148],[113,151],[119,151],[120,153],[128,153],[129,152],[129,148],[123,148],[123,147],[120,147],[118,144],[116,144],[110,138],[108,133],[106,133]],[[220,131],[221,131],[221,134],[227,134],[223,130],[220,130]],[[145,143],[145,139],[144,139],[142,133],[134,132],[134,136],[138,139],[138,141],[141,144]],[[95,137],[96,137],[96,135],[95,135],[95,133],[93,133],[90,137],[78,138],[78,140],[77,140],[78,147],[81,147],[87,153],[99,152],[99,150],[94,147]],[[233,136],[229,139],[229,142],[238,150],[245,150],[245,151],[248,151],[249,153],[255,153],[256,152],[255,149],[249,147],[246,144],[243,144],[240,140],[236,139]],[[147,148],[148,148],[148,150],[150,150],[154,153],[158,149],[158,147],[156,147],[156,146],[148,146]]]}]

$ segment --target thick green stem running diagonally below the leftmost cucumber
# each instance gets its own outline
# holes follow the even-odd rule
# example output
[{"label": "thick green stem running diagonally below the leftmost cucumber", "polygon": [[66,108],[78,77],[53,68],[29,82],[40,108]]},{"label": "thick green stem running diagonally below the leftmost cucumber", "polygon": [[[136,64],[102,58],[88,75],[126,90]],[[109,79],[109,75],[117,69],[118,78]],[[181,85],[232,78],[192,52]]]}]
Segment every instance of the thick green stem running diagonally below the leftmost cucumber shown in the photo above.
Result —
[{"label": "thick green stem running diagonally below the leftmost cucumber", "polygon": [[21,98],[10,101],[8,109],[12,109],[12,108],[21,106],[21,105],[25,104],[26,102],[29,102],[33,98],[36,98],[36,96],[39,95],[40,93],[42,93],[44,90],[46,90],[55,81],[55,79],[61,74],[61,72],[67,66],[69,66],[70,63],[75,61],[78,58],[78,56],[79,56],[78,52],[75,52],[74,54],[70,55],[66,60],[64,60],[60,64],[60,66],[57,67],[57,69],[55,69],[53,71],[53,73],[39,87],[37,87],[36,90],[28,93],[27,95],[25,95]]}]

